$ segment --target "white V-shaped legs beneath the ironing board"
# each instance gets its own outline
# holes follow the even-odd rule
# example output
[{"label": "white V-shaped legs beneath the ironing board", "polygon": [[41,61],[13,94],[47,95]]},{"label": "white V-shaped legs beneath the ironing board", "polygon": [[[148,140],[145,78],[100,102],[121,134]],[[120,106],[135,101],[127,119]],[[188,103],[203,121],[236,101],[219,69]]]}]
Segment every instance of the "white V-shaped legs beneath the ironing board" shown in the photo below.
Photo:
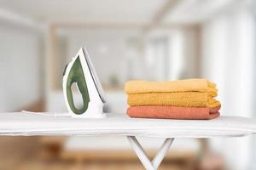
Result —
[{"label": "white V-shaped legs beneath the ironing board", "polygon": [[129,140],[132,149],[137,154],[137,157],[142,161],[143,166],[147,170],[156,170],[160,166],[161,161],[163,161],[174,140],[174,138],[166,139],[161,145],[160,150],[158,150],[156,156],[154,156],[153,161],[150,161],[145,150],[143,150],[142,145],[137,141],[135,136],[127,136],[127,139]]}]

